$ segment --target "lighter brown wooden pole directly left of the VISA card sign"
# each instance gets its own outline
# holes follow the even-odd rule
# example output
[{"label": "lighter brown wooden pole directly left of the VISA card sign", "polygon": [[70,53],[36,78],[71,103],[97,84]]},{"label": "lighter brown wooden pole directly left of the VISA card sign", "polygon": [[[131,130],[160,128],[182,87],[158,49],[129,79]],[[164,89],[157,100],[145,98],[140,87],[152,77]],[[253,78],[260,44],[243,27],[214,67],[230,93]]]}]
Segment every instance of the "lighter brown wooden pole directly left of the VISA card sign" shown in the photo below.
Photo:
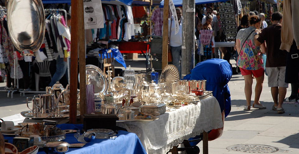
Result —
[{"label": "lighter brown wooden pole directly left of the VISA card sign", "polygon": [[78,7],[78,46],[79,46],[79,72],[80,72],[80,114],[86,114],[86,73],[85,73],[85,29],[84,29],[84,14],[83,1],[79,0]]}]

